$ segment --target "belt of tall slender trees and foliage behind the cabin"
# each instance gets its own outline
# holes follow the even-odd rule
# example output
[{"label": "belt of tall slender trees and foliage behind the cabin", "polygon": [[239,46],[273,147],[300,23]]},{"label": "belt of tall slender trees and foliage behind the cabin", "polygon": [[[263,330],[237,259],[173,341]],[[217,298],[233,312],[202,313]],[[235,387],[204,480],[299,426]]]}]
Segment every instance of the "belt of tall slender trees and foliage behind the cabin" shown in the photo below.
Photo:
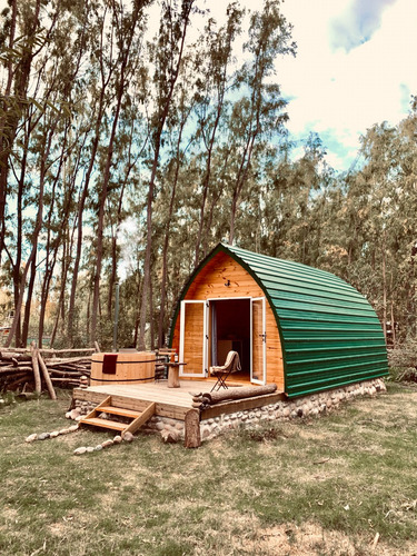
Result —
[{"label": "belt of tall slender trees and foliage behind the cabin", "polygon": [[9,1],[8,344],[110,347],[120,284],[119,345],[161,345],[183,282],[219,241],[335,272],[368,298],[390,346],[416,338],[415,107],[367,130],[356,167],[336,175],[320,137],[287,135],[285,4],[246,13],[234,1],[224,16],[198,0]]}]

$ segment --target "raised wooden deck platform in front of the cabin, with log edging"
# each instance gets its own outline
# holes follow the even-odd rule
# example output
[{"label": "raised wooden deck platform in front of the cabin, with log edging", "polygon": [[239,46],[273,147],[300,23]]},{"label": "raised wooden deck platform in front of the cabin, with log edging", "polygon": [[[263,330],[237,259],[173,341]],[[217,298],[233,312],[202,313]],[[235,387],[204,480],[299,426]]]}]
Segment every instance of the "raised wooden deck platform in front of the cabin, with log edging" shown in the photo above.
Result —
[{"label": "raised wooden deck platform in front of the cabin, with log edging", "polygon": [[[136,385],[101,385],[88,388],[76,388],[73,398],[99,404],[107,396],[111,396],[112,404],[125,409],[143,411],[146,407],[155,401],[155,415],[185,420],[186,414],[192,408],[192,395],[210,391],[214,380],[180,380],[180,388],[168,388],[168,381],[142,383]],[[245,386],[249,386],[246,381]],[[239,386],[237,381],[230,381],[229,386]],[[257,386],[252,386],[256,395]],[[235,401],[224,401],[201,413],[201,419],[209,419],[221,414],[231,414],[245,409],[254,409],[268,404],[275,404],[285,399],[280,391],[256,396]]]}]

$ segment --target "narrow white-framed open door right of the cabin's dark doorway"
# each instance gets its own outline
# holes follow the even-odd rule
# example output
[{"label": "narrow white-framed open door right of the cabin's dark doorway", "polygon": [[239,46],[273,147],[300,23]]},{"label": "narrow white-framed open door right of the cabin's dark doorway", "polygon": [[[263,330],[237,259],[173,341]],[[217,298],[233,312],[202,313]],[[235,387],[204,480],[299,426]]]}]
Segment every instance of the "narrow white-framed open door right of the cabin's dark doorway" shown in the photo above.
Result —
[{"label": "narrow white-framed open door right of the cabin's dark doorway", "polygon": [[252,298],[251,301],[251,366],[250,380],[266,384],[267,377],[267,331],[265,316],[265,297]]}]

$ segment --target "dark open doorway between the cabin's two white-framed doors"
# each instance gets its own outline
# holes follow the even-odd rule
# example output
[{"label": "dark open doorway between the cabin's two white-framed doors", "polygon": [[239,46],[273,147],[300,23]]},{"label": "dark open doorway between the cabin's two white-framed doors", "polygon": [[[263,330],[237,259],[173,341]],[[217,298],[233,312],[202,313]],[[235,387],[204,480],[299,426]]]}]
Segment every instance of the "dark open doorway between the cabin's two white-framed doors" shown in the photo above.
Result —
[{"label": "dark open doorway between the cabin's two white-framed doors", "polygon": [[224,365],[230,350],[240,358],[239,375],[250,377],[250,299],[210,300],[210,366]]}]

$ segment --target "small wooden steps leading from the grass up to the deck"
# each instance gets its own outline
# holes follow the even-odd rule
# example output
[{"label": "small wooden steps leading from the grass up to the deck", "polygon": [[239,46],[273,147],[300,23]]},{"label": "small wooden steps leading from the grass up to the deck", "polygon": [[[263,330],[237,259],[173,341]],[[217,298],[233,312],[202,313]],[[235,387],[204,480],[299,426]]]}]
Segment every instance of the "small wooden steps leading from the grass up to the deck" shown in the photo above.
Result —
[{"label": "small wooden steps leading from the grass up to the deck", "polygon": [[[125,409],[122,407],[116,407],[111,403],[111,396],[108,396],[101,401],[92,411],[90,411],[86,417],[83,417],[79,424],[81,426],[101,427],[110,428],[113,430],[119,430],[121,437],[126,433],[135,434],[138,428],[140,428],[152,415],[155,414],[156,404],[152,401],[143,411],[133,411],[131,409]],[[115,415],[118,417],[125,417],[130,419],[130,423],[120,423],[117,420],[105,419],[99,417],[100,414]]]}]

